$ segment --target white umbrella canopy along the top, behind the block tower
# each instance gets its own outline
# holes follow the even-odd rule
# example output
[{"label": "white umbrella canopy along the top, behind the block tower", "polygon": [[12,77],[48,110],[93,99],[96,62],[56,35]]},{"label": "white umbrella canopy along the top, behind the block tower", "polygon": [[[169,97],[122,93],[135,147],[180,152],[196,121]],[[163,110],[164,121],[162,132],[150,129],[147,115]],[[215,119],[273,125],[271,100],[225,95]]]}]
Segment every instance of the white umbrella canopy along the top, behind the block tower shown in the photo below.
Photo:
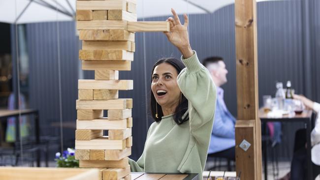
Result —
[{"label": "white umbrella canopy along the top, behind the block tower", "polygon": [[[171,7],[178,14],[213,13],[232,3],[234,0],[137,0],[137,15],[138,18],[170,16]],[[75,6],[76,0],[0,0],[0,22],[72,21]]]}]

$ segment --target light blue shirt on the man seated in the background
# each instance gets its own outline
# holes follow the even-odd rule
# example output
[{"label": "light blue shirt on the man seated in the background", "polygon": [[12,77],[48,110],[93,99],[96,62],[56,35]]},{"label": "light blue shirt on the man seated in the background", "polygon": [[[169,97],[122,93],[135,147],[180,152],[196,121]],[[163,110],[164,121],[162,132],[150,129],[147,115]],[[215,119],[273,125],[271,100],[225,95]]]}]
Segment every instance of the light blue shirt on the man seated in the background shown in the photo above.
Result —
[{"label": "light blue shirt on the man seated in the background", "polygon": [[224,90],[217,87],[217,105],[208,153],[227,150],[235,146],[235,122],[224,103]]}]

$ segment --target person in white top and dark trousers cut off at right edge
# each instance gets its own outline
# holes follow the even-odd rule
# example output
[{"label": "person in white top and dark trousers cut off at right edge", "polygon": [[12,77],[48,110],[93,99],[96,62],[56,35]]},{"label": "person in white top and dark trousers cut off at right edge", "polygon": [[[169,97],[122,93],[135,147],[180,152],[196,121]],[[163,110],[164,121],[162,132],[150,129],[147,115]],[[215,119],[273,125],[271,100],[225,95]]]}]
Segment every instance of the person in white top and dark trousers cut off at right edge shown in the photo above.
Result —
[{"label": "person in white top and dark trousers cut off at right edge", "polygon": [[[315,128],[311,132],[311,160],[314,180],[320,174],[320,104],[304,97],[293,95],[294,99],[300,100],[308,108],[317,113]],[[307,179],[307,149],[306,129],[299,129],[295,133],[294,153],[291,161],[290,173],[280,180],[306,180]]]}]

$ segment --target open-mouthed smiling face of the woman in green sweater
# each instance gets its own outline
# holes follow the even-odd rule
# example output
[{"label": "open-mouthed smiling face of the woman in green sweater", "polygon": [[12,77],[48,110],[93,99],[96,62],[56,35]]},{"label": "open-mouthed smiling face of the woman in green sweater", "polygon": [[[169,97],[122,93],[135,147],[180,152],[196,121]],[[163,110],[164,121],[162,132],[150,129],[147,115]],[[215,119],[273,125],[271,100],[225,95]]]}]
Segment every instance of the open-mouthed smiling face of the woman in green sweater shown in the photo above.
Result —
[{"label": "open-mouthed smiling face of the woman in green sweater", "polygon": [[151,90],[162,110],[175,110],[179,104],[180,89],[177,77],[177,70],[166,62],[157,65],[153,71]]}]

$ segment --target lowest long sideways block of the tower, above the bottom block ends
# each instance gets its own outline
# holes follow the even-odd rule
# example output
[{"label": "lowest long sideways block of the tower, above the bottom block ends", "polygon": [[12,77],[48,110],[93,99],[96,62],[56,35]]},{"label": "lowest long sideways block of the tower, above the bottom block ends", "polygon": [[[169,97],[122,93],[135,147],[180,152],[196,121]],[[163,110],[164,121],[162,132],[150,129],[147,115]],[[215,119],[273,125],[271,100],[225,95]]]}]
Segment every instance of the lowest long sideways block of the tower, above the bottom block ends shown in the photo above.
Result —
[{"label": "lowest long sideways block of the tower, above the bottom block ends", "polygon": [[[94,150],[90,150],[94,151]],[[99,150],[100,152],[101,150]],[[103,150],[102,150],[103,151]],[[91,156],[90,156],[91,157]],[[80,168],[126,168],[129,164],[129,158],[125,157],[118,161],[112,160],[80,160]]]}]

